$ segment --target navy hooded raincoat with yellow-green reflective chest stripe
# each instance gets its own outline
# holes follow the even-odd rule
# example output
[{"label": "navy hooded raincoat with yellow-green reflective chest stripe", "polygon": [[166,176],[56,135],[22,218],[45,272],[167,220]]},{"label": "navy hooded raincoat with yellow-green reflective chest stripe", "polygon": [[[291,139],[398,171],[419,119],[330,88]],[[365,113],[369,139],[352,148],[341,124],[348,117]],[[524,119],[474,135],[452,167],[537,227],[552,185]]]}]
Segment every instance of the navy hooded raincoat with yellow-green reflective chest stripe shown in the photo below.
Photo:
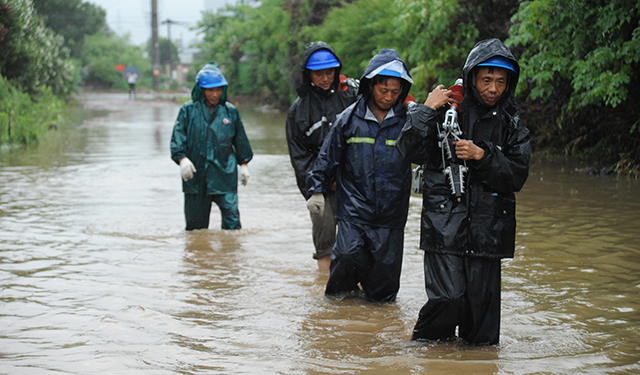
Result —
[{"label": "navy hooded raincoat with yellow-green reflective chest stripe", "polygon": [[[402,85],[402,93],[392,107],[395,116],[382,125],[365,119],[371,95],[367,75],[394,60],[402,61],[390,49],[371,59],[360,79],[360,98],[336,121],[307,178],[307,198],[326,192],[336,181],[339,220],[387,228],[404,228],[406,223],[411,165],[394,145],[406,121],[403,102],[411,82]],[[406,66],[404,69],[408,71]]]}]

